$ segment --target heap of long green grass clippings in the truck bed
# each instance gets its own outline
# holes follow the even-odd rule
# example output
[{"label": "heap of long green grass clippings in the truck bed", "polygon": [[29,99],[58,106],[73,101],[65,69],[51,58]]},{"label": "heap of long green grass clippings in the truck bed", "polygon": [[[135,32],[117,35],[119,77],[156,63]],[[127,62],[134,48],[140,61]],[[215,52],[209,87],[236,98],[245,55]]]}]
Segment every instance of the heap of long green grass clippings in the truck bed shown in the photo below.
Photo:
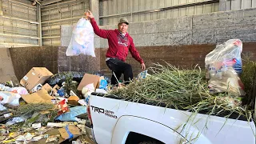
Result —
[{"label": "heap of long green grass clippings in the truck bed", "polygon": [[[122,89],[110,92],[130,102],[142,102],[192,112],[204,111],[218,115],[228,112],[246,115],[246,106],[240,98],[226,93],[210,94],[206,74],[196,66],[194,70],[181,70],[166,63],[150,68],[152,74],[142,81],[134,80]],[[227,115],[228,117],[228,115]]]}]

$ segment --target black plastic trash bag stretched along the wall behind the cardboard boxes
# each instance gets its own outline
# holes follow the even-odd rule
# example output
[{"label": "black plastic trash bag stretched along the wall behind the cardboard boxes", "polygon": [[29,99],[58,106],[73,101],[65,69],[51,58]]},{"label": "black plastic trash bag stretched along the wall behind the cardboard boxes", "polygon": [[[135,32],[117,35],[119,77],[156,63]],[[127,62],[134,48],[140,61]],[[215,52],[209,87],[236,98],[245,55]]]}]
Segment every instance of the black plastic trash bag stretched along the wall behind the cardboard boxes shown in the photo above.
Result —
[{"label": "black plastic trash bag stretched along the wall behind the cardboard boxes", "polygon": [[62,82],[66,81],[66,78],[72,77],[73,81],[81,82],[84,74],[95,74],[98,76],[103,76],[104,74],[101,71],[97,72],[78,72],[78,71],[65,71],[58,74],[54,74],[46,80],[45,83],[48,83],[50,86],[62,86]]}]

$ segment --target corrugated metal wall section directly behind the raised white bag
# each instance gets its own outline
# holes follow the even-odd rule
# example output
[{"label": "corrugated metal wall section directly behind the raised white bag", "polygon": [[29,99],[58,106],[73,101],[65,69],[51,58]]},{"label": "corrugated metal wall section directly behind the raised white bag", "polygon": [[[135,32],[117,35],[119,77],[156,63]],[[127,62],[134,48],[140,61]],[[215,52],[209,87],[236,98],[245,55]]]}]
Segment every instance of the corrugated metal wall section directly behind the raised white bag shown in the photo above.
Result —
[{"label": "corrugated metal wall section directly behind the raised white bag", "polygon": [[60,46],[60,26],[78,22],[86,10],[90,10],[89,0],[64,0],[42,6],[42,45]]}]

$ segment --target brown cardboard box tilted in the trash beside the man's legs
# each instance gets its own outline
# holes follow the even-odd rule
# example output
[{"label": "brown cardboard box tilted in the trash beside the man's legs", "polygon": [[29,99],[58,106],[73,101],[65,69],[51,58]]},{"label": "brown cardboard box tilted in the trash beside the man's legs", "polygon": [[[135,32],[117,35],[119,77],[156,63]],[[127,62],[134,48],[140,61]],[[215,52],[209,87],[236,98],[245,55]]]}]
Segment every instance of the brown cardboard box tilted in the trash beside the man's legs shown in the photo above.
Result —
[{"label": "brown cardboard box tilted in the trash beside the man's legs", "polygon": [[78,90],[82,90],[82,88],[90,83],[94,83],[94,89],[98,88],[98,82],[100,77],[94,74],[85,74],[82,78],[82,81],[79,83]]}]

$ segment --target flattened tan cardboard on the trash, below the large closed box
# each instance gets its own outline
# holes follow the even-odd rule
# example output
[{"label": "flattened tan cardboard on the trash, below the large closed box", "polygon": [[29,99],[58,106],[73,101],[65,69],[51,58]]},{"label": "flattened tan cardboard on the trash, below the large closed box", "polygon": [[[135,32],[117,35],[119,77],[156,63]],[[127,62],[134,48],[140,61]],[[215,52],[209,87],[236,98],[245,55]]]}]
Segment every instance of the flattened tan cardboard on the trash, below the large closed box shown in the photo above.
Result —
[{"label": "flattened tan cardboard on the trash, below the large closed box", "polygon": [[46,90],[38,90],[38,92],[33,94],[22,95],[22,98],[27,103],[51,103],[51,97]]}]

